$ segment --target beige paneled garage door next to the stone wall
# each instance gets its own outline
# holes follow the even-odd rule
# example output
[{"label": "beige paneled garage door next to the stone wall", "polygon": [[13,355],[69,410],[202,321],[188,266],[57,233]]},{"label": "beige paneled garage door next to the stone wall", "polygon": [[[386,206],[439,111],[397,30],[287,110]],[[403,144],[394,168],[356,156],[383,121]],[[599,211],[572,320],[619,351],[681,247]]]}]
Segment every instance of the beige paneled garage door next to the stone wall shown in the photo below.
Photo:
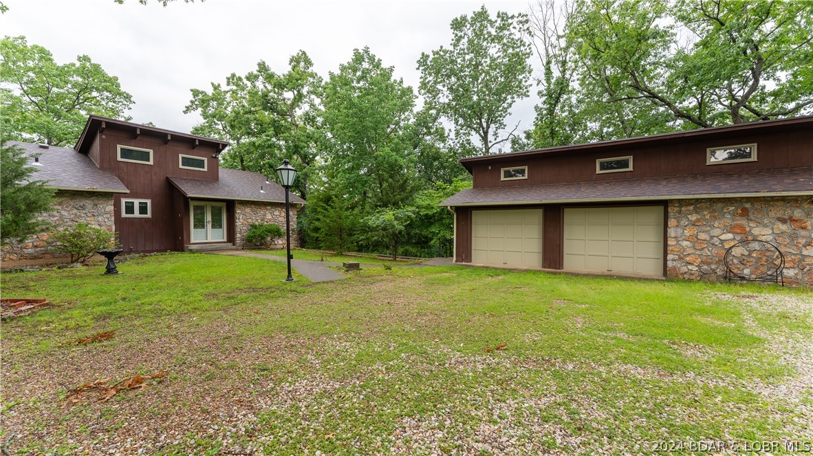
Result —
[{"label": "beige paneled garage door next to the stone wall", "polygon": [[564,209],[564,269],[663,275],[663,206]]}]

